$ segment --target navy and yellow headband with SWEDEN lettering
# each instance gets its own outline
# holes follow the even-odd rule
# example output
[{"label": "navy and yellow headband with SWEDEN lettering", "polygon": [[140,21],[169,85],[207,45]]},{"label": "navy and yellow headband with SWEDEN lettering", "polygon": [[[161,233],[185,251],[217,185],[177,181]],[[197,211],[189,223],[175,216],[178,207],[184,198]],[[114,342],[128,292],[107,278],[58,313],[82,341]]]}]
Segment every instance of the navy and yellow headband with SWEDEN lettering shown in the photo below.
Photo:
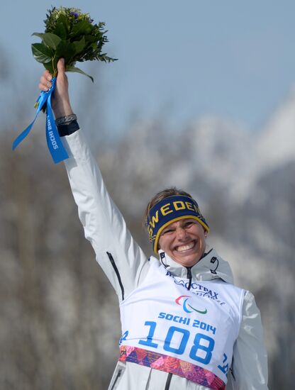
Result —
[{"label": "navy and yellow headband with SWEDEN lettering", "polygon": [[196,219],[204,229],[210,230],[204,216],[199,211],[198,204],[189,196],[167,196],[150,209],[145,225],[155,253],[157,253],[157,245],[162,230],[170,223],[184,218]]}]

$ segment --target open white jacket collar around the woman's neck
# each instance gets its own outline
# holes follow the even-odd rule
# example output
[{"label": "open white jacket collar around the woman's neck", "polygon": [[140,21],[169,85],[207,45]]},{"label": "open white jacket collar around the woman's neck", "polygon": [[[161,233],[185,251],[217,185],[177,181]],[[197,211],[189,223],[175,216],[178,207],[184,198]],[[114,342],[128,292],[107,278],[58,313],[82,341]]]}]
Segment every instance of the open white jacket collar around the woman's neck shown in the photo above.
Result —
[{"label": "open white jacket collar around the woman's neck", "polygon": [[[167,271],[176,277],[186,278],[188,268],[172,260],[164,251],[159,250],[160,262]],[[208,250],[204,256],[191,267],[191,276],[193,280],[215,280],[222,279],[224,282],[233,284],[233,272],[228,262],[223,260],[213,248]]]}]

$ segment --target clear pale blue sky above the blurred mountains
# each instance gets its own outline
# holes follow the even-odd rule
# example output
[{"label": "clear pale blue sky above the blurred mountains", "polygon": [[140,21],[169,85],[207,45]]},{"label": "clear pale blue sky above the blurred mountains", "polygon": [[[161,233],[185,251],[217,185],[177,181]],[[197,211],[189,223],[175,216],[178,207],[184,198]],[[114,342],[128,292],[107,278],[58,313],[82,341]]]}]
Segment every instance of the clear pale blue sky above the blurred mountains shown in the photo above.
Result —
[{"label": "clear pale blue sky above the blurred mountains", "polygon": [[[39,42],[31,34],[43,32],[51,5],[106,22],[106,52],[118,61],[79,67],[99,67],[91,88],[103,91],[113,132],[133,115],[163,115],[182,128],[215,115],[257,130],[294,89],[294,0],[5,1],[0,48],[32,86],[43,66],[31,54],[30,44]],[[74,102],[87,83],[71,75]]]}]

